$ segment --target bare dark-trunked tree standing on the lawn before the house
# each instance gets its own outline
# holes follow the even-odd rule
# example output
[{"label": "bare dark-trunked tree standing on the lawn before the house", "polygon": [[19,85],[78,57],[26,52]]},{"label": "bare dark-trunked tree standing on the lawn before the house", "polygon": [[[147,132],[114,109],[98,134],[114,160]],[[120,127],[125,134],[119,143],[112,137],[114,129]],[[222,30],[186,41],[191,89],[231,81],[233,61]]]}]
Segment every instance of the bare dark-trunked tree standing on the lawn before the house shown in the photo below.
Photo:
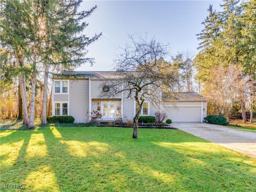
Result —
[{"label": "bare dark-trunked tree standing on the lawn before the house", "polygon": [[[152,38],[149,41],[140,35],[129,35],[130,44],[120,48],[120,54],[114,61],[114,69],[118,71],[116,80],[109,82],[110,94],[123,93],[126,98],[136,102],[132,138],[138,138],[138,120],[144,104],[162,108],[162,88],[173,88],[173,75],[162,65],[169,56],[168,44],[160,43]],[[117,80],[118,79],[118,80]]]}]

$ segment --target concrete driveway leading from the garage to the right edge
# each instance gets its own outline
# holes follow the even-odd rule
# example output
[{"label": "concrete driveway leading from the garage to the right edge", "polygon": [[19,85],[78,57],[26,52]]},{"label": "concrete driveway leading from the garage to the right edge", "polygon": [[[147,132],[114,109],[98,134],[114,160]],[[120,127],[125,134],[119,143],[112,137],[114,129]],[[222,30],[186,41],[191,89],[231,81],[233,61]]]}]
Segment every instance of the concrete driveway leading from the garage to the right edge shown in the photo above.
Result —
[{"label": "concrete driveway leading from the garage to the right edge", "polygon": [[256,133],[208,123],[172,123],[172,127],[256,159]]}]

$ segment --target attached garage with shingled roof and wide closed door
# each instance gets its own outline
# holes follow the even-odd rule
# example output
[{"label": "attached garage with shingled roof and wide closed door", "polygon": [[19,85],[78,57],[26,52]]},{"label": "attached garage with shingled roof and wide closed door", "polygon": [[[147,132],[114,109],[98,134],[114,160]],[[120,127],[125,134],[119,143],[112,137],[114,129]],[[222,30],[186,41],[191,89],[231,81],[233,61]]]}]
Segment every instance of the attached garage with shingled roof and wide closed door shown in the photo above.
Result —
[{"label": "attached garage with shingled roof and wide closed door", "polygon": [[202,122],[207,116],[207,99],[196,92],[176,93],[174,101],[164,104],[172,122]]}]

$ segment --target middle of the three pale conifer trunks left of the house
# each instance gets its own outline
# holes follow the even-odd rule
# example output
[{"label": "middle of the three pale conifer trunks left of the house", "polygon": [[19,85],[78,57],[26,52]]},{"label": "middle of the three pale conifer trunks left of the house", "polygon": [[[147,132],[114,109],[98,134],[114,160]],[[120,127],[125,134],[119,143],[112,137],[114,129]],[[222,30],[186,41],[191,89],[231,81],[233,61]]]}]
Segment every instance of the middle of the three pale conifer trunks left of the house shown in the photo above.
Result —
[{"label": "middle of the three pale conifer trunks left of the house", "polygon": [[36,103],[36,65],[34,66],[34,69],[32,71],[30,116],[29,116],[28,129],[35,128],[35,126],[34,126],[35,103]]}]

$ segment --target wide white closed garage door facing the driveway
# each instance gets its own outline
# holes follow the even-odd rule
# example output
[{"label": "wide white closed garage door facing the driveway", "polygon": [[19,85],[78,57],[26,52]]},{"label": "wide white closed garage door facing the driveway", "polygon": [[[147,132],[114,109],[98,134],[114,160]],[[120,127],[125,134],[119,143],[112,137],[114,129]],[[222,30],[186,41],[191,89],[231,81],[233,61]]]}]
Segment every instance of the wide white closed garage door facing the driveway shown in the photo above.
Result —
[{"label": "wide white closed garage door facing the driveway", "polygon": [[172,122],[201,122],[201,107],[168,107],[166,114]]}]

